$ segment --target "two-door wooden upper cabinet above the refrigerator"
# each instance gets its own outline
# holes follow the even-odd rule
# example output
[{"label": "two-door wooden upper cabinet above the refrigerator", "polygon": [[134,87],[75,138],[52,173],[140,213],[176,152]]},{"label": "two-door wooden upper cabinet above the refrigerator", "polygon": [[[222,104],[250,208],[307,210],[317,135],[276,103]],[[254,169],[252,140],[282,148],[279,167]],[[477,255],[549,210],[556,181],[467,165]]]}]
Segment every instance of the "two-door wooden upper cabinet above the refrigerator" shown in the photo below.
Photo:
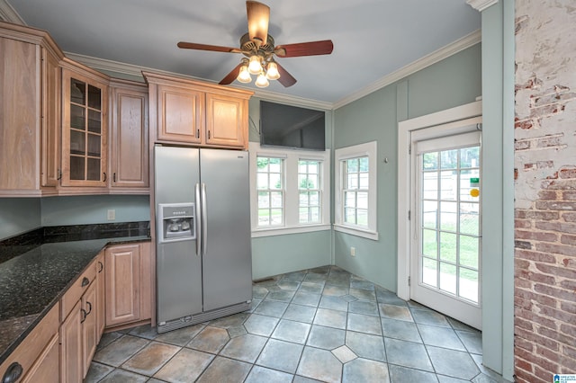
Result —
[{"label": "two-door wooden upper cabinet above the refrigerator", "polygon": [[154,142],[200,147],[247,147],[252,92],[157,73],[148,82]]}]

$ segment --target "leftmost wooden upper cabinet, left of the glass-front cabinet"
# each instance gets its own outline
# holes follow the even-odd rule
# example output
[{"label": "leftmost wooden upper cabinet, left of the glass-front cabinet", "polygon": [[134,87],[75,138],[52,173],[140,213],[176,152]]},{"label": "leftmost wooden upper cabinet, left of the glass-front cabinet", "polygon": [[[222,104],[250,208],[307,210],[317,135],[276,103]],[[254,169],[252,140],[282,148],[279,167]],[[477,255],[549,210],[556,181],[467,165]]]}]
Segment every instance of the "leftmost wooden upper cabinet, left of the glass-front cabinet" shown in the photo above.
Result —
[{"label": "leftmost wooden upper cabinet, left of the glass-front cabinet", "polygon": [[0,196],[56,193],[59,67],[45,31],[0,22]]}]

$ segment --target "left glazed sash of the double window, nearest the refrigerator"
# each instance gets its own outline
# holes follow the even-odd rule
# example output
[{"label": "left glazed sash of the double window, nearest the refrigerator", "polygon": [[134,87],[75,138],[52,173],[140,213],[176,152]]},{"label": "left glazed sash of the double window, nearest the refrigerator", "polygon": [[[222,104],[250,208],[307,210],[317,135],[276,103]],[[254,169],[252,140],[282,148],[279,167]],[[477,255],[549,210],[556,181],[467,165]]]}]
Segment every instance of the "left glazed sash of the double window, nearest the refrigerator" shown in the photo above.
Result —
[{"label": "left glazed sash of the double window, nearest the refrigerator", "polygon": [[258,227],[284,223],[284,160],[257,157]]}]

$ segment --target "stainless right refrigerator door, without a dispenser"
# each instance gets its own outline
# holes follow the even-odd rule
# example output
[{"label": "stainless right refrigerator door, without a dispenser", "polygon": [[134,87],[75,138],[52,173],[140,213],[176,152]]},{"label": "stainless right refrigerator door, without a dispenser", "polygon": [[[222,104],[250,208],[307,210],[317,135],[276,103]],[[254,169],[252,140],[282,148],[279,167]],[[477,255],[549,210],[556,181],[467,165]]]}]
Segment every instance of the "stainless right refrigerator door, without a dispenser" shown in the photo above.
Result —
[{"label": "stainless right refrigerator door, without a dispenser", "polygon": [[252,250],[248,154],[238,150],[200,150],[204,311],[252,299]]}]

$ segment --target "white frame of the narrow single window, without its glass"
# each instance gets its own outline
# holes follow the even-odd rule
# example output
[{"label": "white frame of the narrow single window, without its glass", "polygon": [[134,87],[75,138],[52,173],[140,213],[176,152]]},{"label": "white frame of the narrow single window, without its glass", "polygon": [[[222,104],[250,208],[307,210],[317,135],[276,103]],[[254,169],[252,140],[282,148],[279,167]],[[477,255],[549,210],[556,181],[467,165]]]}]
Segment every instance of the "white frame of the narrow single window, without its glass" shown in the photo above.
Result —
[{"label": "white frame of the narrow single window, without its glass", "polygon": [[[377,231],[377,144],[376,141],[366,142],[365,144],[354,145],[351,147],[341,147],[335,150],[334,163],[335,183],[334,183],[334,230],[362,236],[368,239],[378,240]],[[346,185],[345,169],[346,160],[358,157],[368,157],[368,225],[362,227],[350,225],[344,220],[344,191]]]}]

